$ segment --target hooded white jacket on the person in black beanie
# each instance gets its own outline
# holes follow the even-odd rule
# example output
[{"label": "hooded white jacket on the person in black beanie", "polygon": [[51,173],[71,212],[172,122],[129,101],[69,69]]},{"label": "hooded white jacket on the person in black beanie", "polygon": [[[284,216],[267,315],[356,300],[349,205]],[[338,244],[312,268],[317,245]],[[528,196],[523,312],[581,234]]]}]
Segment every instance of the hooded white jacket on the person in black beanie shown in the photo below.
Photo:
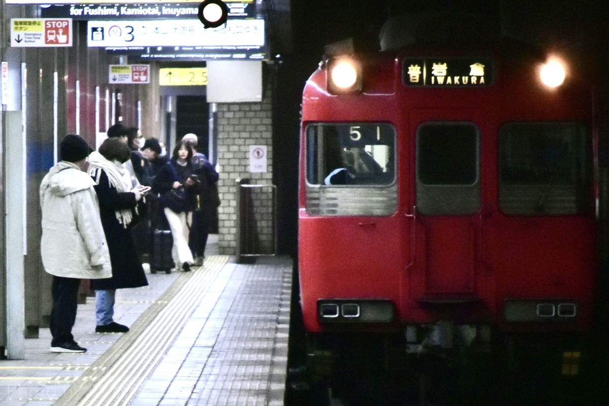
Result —
[{"label": "hooded white jacket on the person in black beanie", "polygon": [[108,243],[99,217],[95,182],[75,164],[61,161],[40,184],[44,270],[55,276],[112,276]]}]

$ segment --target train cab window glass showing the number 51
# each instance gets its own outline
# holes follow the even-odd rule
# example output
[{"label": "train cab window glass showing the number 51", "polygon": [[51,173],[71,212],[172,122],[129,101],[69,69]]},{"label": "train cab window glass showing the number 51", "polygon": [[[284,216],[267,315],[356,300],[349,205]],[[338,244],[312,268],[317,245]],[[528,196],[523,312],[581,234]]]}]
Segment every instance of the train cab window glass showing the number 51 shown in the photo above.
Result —
[{"label": "train cab window glass showing the number 51", "polygon": [[309,184],[389,185],[395,181],[392,125],[312,124],[306,134]]}]

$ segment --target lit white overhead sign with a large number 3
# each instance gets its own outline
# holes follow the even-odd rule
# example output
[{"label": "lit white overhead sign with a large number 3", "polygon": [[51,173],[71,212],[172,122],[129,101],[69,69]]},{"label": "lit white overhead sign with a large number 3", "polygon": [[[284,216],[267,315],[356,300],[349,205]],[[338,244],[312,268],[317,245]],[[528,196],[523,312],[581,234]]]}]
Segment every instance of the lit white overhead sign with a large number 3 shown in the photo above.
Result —
[{"label": "lit white overhead sign with a large number 3", "polygon": [[88,21],[87,46],[263,46],[264,19],[233,19],[205,29],[198,19]]}]

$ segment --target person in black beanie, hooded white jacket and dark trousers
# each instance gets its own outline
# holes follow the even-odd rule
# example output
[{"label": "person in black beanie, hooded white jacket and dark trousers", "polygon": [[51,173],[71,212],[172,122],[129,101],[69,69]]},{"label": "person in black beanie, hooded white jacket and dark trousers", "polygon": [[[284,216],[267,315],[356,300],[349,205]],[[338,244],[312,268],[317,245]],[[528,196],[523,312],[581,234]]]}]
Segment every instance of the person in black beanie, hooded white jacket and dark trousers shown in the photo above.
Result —
[{"label": "person in black beanie, hooded white jacket and dark trousers", "polygon": [[85,139],[67,135],[60,145],[62,161],[40,184],[40,251],[44,270],[53,275],[51,352],[86,351],[72,335],[80,279],[112,276],[95,182],[82,172],[90,152]]}]

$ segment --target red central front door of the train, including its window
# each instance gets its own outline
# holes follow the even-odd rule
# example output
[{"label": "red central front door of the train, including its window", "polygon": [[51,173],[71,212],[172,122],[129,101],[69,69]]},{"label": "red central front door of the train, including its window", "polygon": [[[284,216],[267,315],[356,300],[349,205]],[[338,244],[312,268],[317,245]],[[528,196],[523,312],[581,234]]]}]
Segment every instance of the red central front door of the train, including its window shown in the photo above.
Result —
[{"label": "red central front door of the train, including its window", "polygon": [[475,298],[481,264],[482,111],[414,114],[415,262],[412,298]]}]

